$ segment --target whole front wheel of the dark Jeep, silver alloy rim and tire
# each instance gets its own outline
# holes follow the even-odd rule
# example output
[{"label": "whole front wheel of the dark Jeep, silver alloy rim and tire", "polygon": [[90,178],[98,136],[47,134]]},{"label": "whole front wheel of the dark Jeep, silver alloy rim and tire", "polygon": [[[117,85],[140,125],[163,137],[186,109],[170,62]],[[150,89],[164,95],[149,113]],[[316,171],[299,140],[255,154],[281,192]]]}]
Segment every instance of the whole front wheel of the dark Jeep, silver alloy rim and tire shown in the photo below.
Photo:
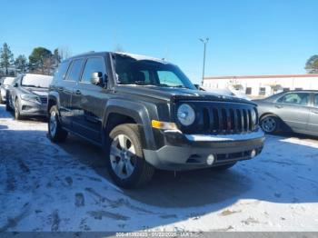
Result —
[{"label": "whole front wheel of the dark Jeep, silver alloy rim and tire", "polygon": [[114,127],[106,146],[107,170],[116,184],[135,188],[151,180],[154,167],[144,160],[141,135],[136,124]]}]

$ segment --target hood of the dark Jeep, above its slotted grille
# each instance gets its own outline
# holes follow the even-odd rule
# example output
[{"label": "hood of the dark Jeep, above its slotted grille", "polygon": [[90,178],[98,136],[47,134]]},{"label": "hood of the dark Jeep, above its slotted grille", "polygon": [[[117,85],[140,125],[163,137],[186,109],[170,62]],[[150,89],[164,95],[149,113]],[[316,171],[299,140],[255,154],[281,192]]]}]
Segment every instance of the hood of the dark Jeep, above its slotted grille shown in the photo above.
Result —
[{"label": "hood of the dark Jeep, above its slotted grille", "polygon": [[234,96],[208,93],[199,90],[186,88],[171,88],[157,86],[139,86],[139,85],[118,85],[115,87],[117,93],[135,94],[141,96],[152,97],[155,99],[174,101],[174,100],[204,100],[204,101],[222,101],[233,103],[253,104],[243,98]]}]

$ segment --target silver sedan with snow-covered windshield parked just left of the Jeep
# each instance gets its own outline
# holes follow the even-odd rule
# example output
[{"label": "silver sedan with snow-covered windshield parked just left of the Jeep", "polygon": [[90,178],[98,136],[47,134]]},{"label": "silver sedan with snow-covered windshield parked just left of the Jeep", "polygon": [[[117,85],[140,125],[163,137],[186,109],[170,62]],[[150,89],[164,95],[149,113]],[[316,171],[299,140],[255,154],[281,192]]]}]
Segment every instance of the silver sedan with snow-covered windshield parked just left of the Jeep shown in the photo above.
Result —
[{"label": "silver sedan with snow-covered windshield parked just left of the Jeep", "polygon": [[41,74],[20,74],[7,90],[6,109],[15,111],[15,119],[47,115],[47,92],[53,77]]}]

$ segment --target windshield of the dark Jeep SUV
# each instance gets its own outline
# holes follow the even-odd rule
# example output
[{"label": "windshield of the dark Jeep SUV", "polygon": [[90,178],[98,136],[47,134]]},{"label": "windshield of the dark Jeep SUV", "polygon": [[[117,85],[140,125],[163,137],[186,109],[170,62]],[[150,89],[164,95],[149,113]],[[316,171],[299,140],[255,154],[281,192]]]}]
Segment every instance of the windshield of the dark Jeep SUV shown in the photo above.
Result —
[{"label": "windshield of the dark Jeep SUV", "polygon": [[115,71],[118,75],[118,84],[196,89],[185,74],[173,64],[115,55]]}]

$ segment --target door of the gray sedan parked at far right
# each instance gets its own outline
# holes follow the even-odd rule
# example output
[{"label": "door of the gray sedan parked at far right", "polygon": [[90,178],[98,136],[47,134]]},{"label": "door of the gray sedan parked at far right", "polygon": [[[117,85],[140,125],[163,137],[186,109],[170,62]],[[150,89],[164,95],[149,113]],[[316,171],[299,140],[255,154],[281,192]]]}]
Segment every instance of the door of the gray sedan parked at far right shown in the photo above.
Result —
[{"label": "door of the gray sedan parked at far right", "polygon": [[274,104],[274,113],[293,131],[305,131],[310,114],[310,96],[303,92],[283,94]]}]

